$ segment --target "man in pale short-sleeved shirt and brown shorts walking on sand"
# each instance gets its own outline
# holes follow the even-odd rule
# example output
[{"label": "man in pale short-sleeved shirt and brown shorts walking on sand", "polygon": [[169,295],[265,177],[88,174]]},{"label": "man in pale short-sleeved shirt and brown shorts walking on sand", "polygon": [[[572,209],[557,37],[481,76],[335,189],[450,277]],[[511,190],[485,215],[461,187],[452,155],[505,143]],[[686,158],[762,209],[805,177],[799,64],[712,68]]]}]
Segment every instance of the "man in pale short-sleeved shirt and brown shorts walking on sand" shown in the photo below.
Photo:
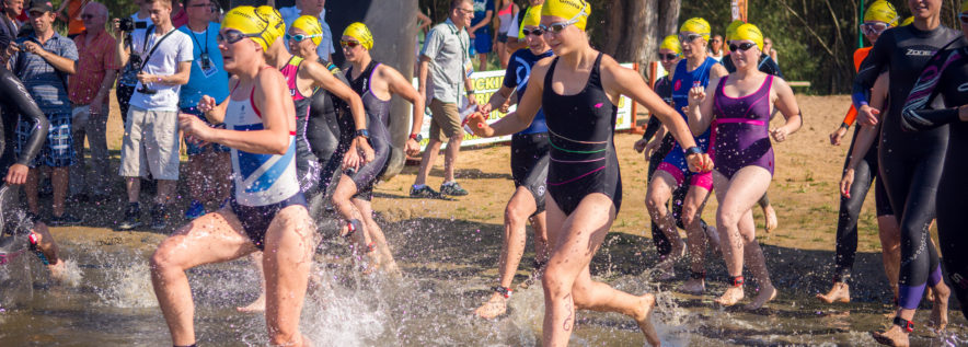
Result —
[{"label": "man in pale short-sleeved shirt and brown shorts walking on sand", "polygon": [[[470,44],[465,28],[473,15],[473,1],[452,0],[449,18],[430,30],[424,43],[424,50],[420,51],[418,91],[420,95],[430,100],[430,139],[420,159],[420,171],[410,192],[411,197],[436,198],[441,193],[454,196],[468,195],[468,190],[454,181],[453,165],[457,164],[460,144],[464,138],[458,111],[461,97],[466,94],[470,106],[477,105],[474,91],[471,89],[470,76],[473,71],[471,57],[464,48]],[[426,183],[430,167],[434,166],[434,161],[440,151],[440,144],[445,141],[449,143],[443,160],[443,184],[440,185],[440,193],[437,193]]]}]

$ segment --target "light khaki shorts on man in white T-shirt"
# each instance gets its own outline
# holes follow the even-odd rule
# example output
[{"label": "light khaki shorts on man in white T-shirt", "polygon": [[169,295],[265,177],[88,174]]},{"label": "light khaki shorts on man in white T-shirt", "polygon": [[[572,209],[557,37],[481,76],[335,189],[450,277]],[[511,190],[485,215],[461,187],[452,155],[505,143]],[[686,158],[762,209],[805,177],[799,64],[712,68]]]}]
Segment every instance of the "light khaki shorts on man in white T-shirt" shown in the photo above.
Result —
[{"label": "light khaki shorts on man in white T-shirt", "polygon": [[178,180],[178,112],[130,106],[122,142],[118,174],[125,177]]}]

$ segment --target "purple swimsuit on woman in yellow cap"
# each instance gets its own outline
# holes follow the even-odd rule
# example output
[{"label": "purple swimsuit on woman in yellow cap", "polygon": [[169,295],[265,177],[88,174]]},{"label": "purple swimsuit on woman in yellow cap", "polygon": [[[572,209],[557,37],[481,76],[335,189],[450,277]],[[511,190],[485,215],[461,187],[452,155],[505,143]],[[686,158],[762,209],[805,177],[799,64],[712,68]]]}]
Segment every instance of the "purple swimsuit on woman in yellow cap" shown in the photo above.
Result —
[{"label": "purple swimsuit on woman in yellow cap", "polygon": [[773,147],[770,144],[770,89],[773,76],[767,76],[763,85],[742,97],[723,93],[724,77],[716,86],[715,118],[710,144],[710,158],[716,171],[731,180],[742,167],[757,165],[773,175]]}]

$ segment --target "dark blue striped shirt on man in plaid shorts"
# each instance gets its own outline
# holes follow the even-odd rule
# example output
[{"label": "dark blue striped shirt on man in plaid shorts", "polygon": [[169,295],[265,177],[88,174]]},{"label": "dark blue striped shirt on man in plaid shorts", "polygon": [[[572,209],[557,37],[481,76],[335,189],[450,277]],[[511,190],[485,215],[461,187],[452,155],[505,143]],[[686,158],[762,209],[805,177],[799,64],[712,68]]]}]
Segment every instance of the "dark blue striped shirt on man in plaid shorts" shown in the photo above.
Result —
[{"label": "dark blue striped shirt on man in plaid shorts", "polygon": [[[19,44],[27,41],[39,43],[34,35],[16,39]],[[74,42],[60,36],[60,34],[54,33],[54,36],[48,38],[42,47],[60,57],[78,60],[78,47],[74,46]],[[71,112],[70,99],[68,99],[67,85],[65,85],[67,72],[59,72],[41,56],[23,50],[11,58],[10,66],[13,67],[13,72],[23,81],[24,86],[43,113]]]}]

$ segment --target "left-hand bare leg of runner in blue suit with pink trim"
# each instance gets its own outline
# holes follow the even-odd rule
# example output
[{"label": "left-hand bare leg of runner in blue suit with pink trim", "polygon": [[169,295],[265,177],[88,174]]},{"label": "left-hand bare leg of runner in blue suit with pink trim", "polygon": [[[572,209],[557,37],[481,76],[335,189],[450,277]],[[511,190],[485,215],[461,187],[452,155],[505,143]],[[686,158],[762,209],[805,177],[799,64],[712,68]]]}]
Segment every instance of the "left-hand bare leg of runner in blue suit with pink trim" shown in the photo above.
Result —
[{"label": "left-hand bare leg of runner in blue suit with pink trim", "polygon": [[656,171],[648,184],[648,192],[645,197],[645,206],[648,208],[648,215],[656,223],[669,243],[672,244],[672,253],[668,258],[661,259],[657,267],[659,268],[659,280],[669,280],[676,276],[673,266],[685,252],[685,245],[679,238],[679,231],[676,228],[676,219],[669,212],[667,204],[672,197],[672,187],[676,186],[676,178],[665,171]]}]

